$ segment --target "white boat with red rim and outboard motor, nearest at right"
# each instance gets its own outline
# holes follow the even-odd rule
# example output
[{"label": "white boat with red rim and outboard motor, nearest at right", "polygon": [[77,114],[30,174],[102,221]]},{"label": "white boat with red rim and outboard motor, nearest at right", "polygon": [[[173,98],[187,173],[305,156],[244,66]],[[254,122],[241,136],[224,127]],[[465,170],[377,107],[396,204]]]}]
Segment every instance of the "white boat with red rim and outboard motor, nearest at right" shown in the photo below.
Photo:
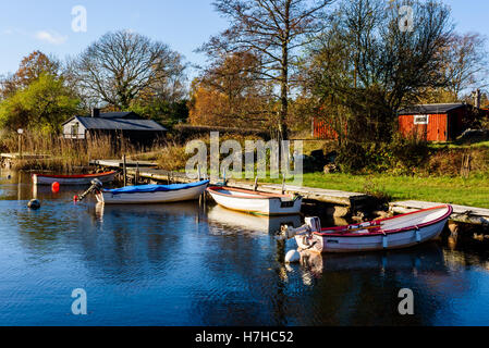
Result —
[{"label": "white boat with red rim and outboard motor, nearest at right", "polygon": [[424,209],[394,217],[340,227],[321,228],[318,217],[299,228],[285,227],[302,250],[354,252],[407,248],[437,238],[453,212],[451,206]]}]

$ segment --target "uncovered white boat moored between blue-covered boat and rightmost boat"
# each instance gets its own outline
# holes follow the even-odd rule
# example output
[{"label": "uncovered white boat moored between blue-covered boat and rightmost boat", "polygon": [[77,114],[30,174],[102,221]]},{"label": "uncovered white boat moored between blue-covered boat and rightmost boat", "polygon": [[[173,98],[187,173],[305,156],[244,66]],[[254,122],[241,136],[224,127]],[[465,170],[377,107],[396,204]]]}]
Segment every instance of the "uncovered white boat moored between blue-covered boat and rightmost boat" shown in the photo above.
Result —
[{"label": "uncovered white boat moored between blue-covered boat and rightmost boat", "polygon": [[227,186],[212,186],[207,191],[218,204],[236,211],[259,215],[290,215],[301,212],[301,196],[267,194]]}]

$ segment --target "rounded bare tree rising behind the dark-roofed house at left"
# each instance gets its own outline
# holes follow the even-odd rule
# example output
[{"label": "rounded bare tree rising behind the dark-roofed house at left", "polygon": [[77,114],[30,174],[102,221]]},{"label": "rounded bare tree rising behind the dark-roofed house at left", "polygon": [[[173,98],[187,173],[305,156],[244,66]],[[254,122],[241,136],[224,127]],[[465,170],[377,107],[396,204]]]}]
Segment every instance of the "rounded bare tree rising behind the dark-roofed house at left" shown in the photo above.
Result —
[{"label": "rounded bare tree rising behind the dark-roofed house at left", "polygon": [[126,110],[143,92],[167,96],[183,88],[184,64],[167,45],[139,34],[108,33],[68,64],[84,99]]}]

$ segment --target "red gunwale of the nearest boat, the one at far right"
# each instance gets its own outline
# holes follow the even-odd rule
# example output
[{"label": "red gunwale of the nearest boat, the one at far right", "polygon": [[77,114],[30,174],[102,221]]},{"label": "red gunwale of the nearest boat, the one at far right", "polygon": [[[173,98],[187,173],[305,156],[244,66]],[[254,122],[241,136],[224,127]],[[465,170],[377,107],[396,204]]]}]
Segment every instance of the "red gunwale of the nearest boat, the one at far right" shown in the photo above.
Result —
[{"label": "red gunwale of the nearest boat, the one at far right", "polygon": [[[437,207],[432,207],[432,208],[416,210],[416,211],[412,211],[412,212],[408,212],[405,214],[375,221],[375,223],[379,224],[379,226],[380,226],[380,223],[383,221],[394,220],[394,219],[408,216],[408,215],[413,215],[416,213],[421,213],[421,212],[426,212],[426,211],[430,211],[430,210],[438,210],[438,209],[442,209],[442,208],[447,209],[447,213],[444,213],[442,216],[431,220],[429,222],[423,223],[423,224],[418,224],[418,225],[409,225],[406,227],[395,228],[395,229],[381,229],[380,228],[379,231],[362,233],[362,234],[360,233],[347,233],[349,229],[346,229],[346,228],[349,226],[357,226],[358,225],[358,224],[352,224],[352,225],[345,225],[345,226],[321,228],[321,232],[314,232],[314,235],[321,236],[321,237],[372,237],[372,236],[379,236],[379,235],[392,235],[392,234],[408,232],[408,231],[413,231],[413,229],[419,229],[423,227],[435,225],[435,224],[450,217],[450,215],[453,212],[453,207],[450,204],[437,206]],[[374,221],[371,221],[371,222],[374,222]],[[322,231],[344,231],[344,233],[341,233],[341,232],[340,233],[327,233],[327,232],[322,232]]]}]

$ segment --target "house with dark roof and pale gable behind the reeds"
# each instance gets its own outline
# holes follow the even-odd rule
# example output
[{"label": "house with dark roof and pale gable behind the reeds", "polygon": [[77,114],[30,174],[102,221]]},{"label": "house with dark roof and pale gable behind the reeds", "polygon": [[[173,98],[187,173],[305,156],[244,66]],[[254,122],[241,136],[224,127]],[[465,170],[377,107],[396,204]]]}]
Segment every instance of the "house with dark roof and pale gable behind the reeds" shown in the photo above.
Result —
[{"label": "house with dark roof and pale gable behind the reeds", "polygon": [[62,126],[65,139],[88,139],[96,135],[122,135],[138,142],[149,142],[164,136],[168,132],[158,122],[143,119],[135,112],[100,113],[98,109],[94,109],[90,115],[73,116]]}]

